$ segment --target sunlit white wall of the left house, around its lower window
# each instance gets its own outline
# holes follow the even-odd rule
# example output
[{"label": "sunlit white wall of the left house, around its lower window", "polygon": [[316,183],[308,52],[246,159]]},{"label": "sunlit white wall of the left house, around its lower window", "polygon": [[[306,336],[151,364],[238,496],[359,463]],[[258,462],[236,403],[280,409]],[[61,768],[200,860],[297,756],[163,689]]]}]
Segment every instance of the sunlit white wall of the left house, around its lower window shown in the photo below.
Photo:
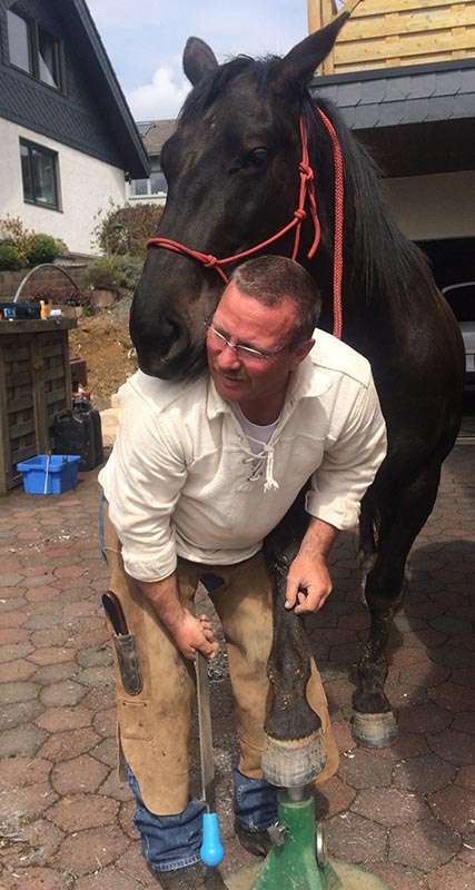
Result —
[{"label": "sunlit white wall of the left house, around its lower window", "polygon": [[[20,138],[58,154],[61,210],[50,210],[23,200]],[[109,200],[123,205],[123,170],[40,136],[26,127],[0,119],[0,217],[19,216],[24,226],[62,238],[73,253],[91,254],[95,216]]]}]

